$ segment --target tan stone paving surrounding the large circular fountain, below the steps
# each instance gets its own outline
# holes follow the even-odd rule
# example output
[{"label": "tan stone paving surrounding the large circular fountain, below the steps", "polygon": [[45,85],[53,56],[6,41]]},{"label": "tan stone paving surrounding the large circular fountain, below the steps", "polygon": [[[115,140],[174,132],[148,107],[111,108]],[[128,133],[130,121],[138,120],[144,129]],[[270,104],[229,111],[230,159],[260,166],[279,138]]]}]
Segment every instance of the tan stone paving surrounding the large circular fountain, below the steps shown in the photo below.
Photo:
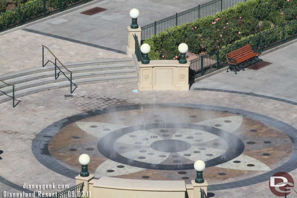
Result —
[{"label": "tan stone paving surrounding the large circular fountain, below the steps", "polygon": [[[115,105],[111,104],[113,103],[111,100],[95,106],[89,105],[88,108],[85,104],[90,104],[92,101],[91,96],[94,94],[102,98],[122,100],[121,105],[156,102],[230,107],[230,104],[232,104],[232,108],[267,115],[297,127],[297,106],[293,104],[215,91],[148,91],[132,93],[132,89],[135,88],[137,88],[136,82],[84,85],[79,86],[73,94],[79,96],[79,100],[65,97],[65,95],[69,95],[69,89],[59,89],[23,97],[22,102],[14,109],[11,107],[10,102],[1,104],[0,128],[2,138],[0,142],[4,151],[1,154],[3,158],[0,164],[1,177],[19,186],[22,186],[24,182],[33,181],[42,184],[54,182],[56,184],[74,185],[73,179],[57,174],[40,164],[32,154],[31,142],[42,129],[62,118],[94,110],[94,107],[99,109]],[[271,111],[270,107],[274,107],[274,110]],[[22,167],[21,171],[20,167]],[[32,170],[33,167],[34,170]],[[290,174],[294,178],[297,171],[293,170]],[[12,190],[10,187],[4,186],[4,189],[6,188]],[[50,192],[53,189],[47,191]],[[246,197],[247,194],[249,196],[268,197],[271,195],[267,181],[251,186],[212,192],[215,197]]]}]

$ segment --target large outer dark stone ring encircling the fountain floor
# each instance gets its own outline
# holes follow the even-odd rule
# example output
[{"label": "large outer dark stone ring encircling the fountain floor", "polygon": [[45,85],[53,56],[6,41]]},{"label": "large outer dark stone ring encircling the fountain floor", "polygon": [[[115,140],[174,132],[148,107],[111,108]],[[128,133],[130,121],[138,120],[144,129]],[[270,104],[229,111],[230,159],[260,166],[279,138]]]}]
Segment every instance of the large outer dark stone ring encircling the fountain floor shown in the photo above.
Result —
[{"label": "large outer dark stone ring encircling the fountain floor", "polygon": [[[195,90],[208,90],[207,88],[199,88]],[[211,91],[211,90],[209,90]],[[223,90],[224,92],[225,90]],[[226,91],[226,92],[230,92],[230,91]],[[232,91],[231,93],[238,93],[238,91]],[[244,92],[243,92],[244,93]],[[241,93],[240,93],[241,94]],[[253,94],[254,95],[254,94]],[[253,96],[252,95],[252,96]],[[257,96],[257,94],[255,95]],[[261,95],[261,97],[264,97]],[[290,103],[293,105],[297,105],[297,103],[292,102],[292,101],[287,101],[284,99],[281,99],[280,102],[284,102],[285,103]],[[277,119],[265,116],[265,115],[261,115],[258,113],[254,113],[254,112],[250,112],[250,111],[245,111],[245,110],[240,110],[240,109],[234,109],[234,108],[230,108],[230,107],[219,107],[219,106],[213,106],[213,105],[202,105],[202,104],[175,104],[175,103],[168,103],[168,104],[157,104],[159,108],[168,108],[168,107],[186,107],[186,108],[194,108],[194,109],[202,109],[202,110],[211,110],[211,111],[218,111],[218,112],[223,112],[224,110],[228,110],[229,113],[237,113],[240,115],[245,115],[248,118],[252,118],[255,120],[258,120],[260,122],[263,122],[267,125],[273,126],[276,129],[281,130],[282,132],[284,132],[285,134],[287,134],[288,137],[290,137],[290,139],[292,140],[295,148],[297,148],[297,145],[295,144],[295,142],[297,142],[297,137],[296,137],[296,133],[297,133],[297,129],[294,128],[293,126],[290,126],[282,121],[279,121]],[[126,110],[136,110],[136,109],[141,109],[141,107],[143,107],[144,109],[149,109],[149,108],[153,108],[154,105],[153,104],[135,104],[135,105],[128,105],[128,106],[119,106],[119,107],[112,107],[112,108],[104,108],[104,109],[98,109],[98,110],[92,110],[89,112],[84,112],[84,113],[80,113],[77,115],[73,115],[67,118],[63,118],[55,123],[52,123],[51,125],[49,125],[48,127],[46,127],[45,129],[43,129],[39,134],[36,135],[36,137],[34,138],[34,140],[32,141],[32,153],[34,154],[35,158],[45,167],[47,167],[48,169],[57,172],[60,175],[64,175],[66,177],[69,178],[75,178],[79,172],[75,171],[75,170],[71,170],[65,166],[63,166],[62,164],[60,164],[59,162],[57,162],[51,155],[50,152],[48,150],[48,141],[50,140],[47,136],[54,136],[56,133],[59,132],[60,129],[62,129],[63,127],[83,120],[85,118],[90,118],[93,117],[95,115],[102,115],[105,113],[111,113],[111,112],[117,112],[117,111],[126,111]],[[165,126],[163,126],[164,128]],[[256,130],[255,130],[256,131]],[[200,152],[200,151],[194,151],[195,152]],[[268,181],[269,177],[267,177],[266,175],[273,175],[275,173],[275,171],[279,172],[279,171],[284,171],[284,172],[291,172],[292,170],[295,170],[295,168],[292,167],[293,164],[296,163],[296,158],[297,158],[297,150],[293,151],[293,154],[291,156],[291,158],[285,162],[284,164],[282,164],[281,167],[278,167],[277,169],[271,170],[269,172],[266,172],[265,174],[262,175],[258,175],[255,177],[251,177],[251,178],[247,178],[247,179],[242,179],[242,180],[238,180],[236,182],[228,182],[228,183],[224,183],[224,184],[217,184],[217,185],[209,185],[208,188],[209,190],[215,190],[213,188],[217,189],[217,186],[220,185],[224,185],[224,188],[227,189],[232,189],[232,188],[237,188],[236,184],[238,182],[241,183],[242,186],[249,186],[251,185],[251,183],[260,183],[263,181]],[[59,165],[59,167],[57,168],[57,165]],[[58,169],[58,170],[57,170]],[[1,176],[0,176],[1,178]],[[95,178],[96,179],[96,178]],[[0,180],[0,182],[7,184],[8,186],[15,188],[15,189],[23,189],[20,186],[17,186],[16,184],[10,182],[9,180],[6,180],[4,178],[2,178],[2,180]],[[227,186],[225,186],[227,185]],[[29,191],[27,189],[23,189],[25,191]],[[30,191],[32,192],[32,191]]]}]

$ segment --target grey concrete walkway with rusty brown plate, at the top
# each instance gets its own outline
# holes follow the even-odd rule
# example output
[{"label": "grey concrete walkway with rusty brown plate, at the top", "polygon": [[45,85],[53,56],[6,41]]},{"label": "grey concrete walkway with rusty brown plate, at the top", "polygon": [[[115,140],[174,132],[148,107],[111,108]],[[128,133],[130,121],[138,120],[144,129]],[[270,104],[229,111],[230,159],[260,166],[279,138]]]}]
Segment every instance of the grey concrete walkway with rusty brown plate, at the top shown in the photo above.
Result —
[{"label": "grey concrete walkway with rusty brown plate, at the top", "polygon": [[[132,8],[140,11],[138,24],[143,26],[206,1],[106,0],[27,28],[126,52],[127,26],[131,24],[129,12]],[[107,10],[92,16],[80,14],[94,7]]]}]

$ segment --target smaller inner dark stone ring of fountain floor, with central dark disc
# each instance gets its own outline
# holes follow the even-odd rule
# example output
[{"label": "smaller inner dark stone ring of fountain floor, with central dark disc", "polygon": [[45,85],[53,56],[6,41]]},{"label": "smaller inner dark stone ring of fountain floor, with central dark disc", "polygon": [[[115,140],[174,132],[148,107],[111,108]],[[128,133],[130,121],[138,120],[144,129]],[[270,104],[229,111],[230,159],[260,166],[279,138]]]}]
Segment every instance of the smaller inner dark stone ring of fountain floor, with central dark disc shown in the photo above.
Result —
[{"label": "smaller inner dark stone ring of fountain floor, with central dark disc", "polygon": [[[162,128],[163,124],[162,123],[151,123],[151,124],[146,124],[146,129],[159,129]],[[147,163],[147,162],[143,162],[143,161],[138,161],[138,160],[134,160],[132,163],[130,162],[128,164],[129,158],[122,156],[121,154],[117,153],[116,150],[114,149],[114,142],[116,142],[116,140],[120,137],[122,137],[123,135],[135,132],[139,129],[140,126],[129,126],[129,127],[125,127],[122,129],[118,129],[115,130],[113,132],[110,132],[108,134],[106,134],[104,137],[102,137],[98,144],[97,144],[97,148],[98,151],[105,156],[108,159],[112,159],[113,161],[116,161],[118,163],[121,164],[126,164],[129,166],[134,166],[134,167],[138,167],[138,168],[146,168],[146,169],[154,169],[154,170],[192,170],[194,169],[194,164],[183,164],[182,167],[178,167],[174,164],[151,164],[151,163]],[[212,127],[211,129],[209,129],[208,126],[204,126],[204,125],[197,125],[197,124],[184,124],[184,123],[167,123],[167,127],[168,128],[178,128],[178,129],[196,129],[196,130],[200,130],[200,131],[207,131],[211,134],[217,135],[218,137],[221,137],[223,140],[225,140],[225,142],[227,142],[228,145],[228,149],[225,153],[223,153],[221,156],[218,156],[216,158],[207,160],[206,163],[206,167],[212,167],[212,166],[216,166],[219,164],[223,164],[227,161],[230,161],[232,159],[235,159],[236,157],[240,156],[241,153],[244,151],[244,143],[235,135],[226,132],[222,129],[218,129],[215,127]],[[104,144],[104,142],[109,141],[110,144],[107,145],[108,148],[106,148],[106,144]],[[166,142],[168,141],[168,142]],[[178,142],[170,142],[170,141],[178,141]],[[160,142],[160,144],[165,144],[165,145],[169,145],[169,144],[181,144],[181,140],[159,140],[153,143],[156,145],[155,147],[157,147],[157,151],[161,151],[164,147],[160,146],[157,144],[157,142]],[[184,149],[189,149],[188,147],[190,145],[187,145],[188,143],[182,143],[183,146],[183,150]],[[105,145],[105,146],[103,146]],[[152,147],[153,148],[153,147]],[[160,149],[161,150],[160,150]],[[200,148],[202,149],[202,148]],[[205,148],[203,148],[205,149]],[[164,152],[164,150],[162,150]],[[179,151],[170,151],[170,149],[165,152],[179,152]],[[112,154],[111,154],[112,153]],[[152,166],[153,165],[153,166]]]}]

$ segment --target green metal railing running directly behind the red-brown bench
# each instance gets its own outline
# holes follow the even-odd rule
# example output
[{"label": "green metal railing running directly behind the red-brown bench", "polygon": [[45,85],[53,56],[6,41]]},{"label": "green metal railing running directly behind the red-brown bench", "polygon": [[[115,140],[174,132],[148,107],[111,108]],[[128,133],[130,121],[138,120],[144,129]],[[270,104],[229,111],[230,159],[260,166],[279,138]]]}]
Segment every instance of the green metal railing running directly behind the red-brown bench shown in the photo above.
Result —
[{"label": "green metal railing running directly behind the red-brown bench", "polygon": [[198,78],[228,66],[226,62],[226,54],[245,45],[251,44],[253,48],[258,48],[261,52],[264,52],[296,38],[297,20],[292,20],[282,24],[282,26],[260,32],[247,39],[235,42],[191,60],[189,76]]}]

